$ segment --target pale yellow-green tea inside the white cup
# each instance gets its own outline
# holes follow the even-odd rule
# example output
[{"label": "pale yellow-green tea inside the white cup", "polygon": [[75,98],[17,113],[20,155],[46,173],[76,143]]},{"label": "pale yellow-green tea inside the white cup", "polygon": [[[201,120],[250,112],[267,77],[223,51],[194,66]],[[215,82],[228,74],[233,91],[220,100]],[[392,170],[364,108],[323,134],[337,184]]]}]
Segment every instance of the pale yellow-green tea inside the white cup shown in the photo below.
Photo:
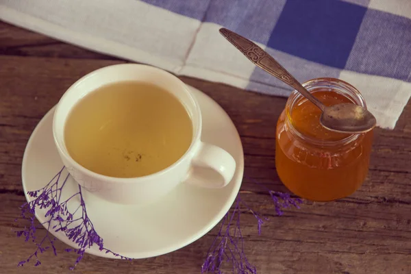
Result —
[{"label": "pale yellow-green tea inside the white cup", "polygon": [[192,141],[192,121],[170,92],[143,82],[119,82],[90,92],[75,105],[64,141],[71,157],[90,171],[140,177],[184,155]]}]

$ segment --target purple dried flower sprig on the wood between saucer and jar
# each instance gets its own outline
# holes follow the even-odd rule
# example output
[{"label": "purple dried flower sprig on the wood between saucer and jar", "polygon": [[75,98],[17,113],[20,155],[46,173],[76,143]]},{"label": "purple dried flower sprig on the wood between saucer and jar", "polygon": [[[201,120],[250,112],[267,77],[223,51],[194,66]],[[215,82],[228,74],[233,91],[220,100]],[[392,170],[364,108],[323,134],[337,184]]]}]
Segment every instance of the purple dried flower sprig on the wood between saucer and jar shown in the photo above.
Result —
[{"label": "purple dried flower sprig on the wood between saucer and jar", "polygon": [[[271,199],[275,206],[275,212],[278,216],[284,214],[284,208],[294,206],[299,208],[299,204],[303,201],[299,198],[291,198],[288,193],[275,192],[267,188]],[[256,274],[256,266],[253,266],[247,260],[244,252],[244,239],[241,234],[240,214],[241,205],[245,206],[246,210],[251,212],[257,219],[258,235],[261,234],[261,225],[269,219],[249,208],[244,203],[240,194],[238,194],[235,202],[235,207],[232,211],[225,214],[219,232],[214,238],[210,249],[208,249],[206,260],[201,266],[201,273],[223,273],[221,268],[224,262],[232,265],[232,273],[238,274]],[[223,229],[225,227],[225,229]]]}]

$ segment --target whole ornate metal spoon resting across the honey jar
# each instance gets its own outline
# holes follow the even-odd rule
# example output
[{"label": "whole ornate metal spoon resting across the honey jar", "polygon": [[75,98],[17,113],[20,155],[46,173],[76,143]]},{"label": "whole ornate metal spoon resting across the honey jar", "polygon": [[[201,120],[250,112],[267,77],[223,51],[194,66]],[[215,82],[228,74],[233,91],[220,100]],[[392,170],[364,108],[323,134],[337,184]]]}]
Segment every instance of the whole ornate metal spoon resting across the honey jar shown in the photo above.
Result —
[{"label": "whole ornate metal spoon resting across the honey jar", "polygon": [[377,120],[371,112],[362,108],[362,106],[353,103],[339,103],[330,107],[325,106],[258,45],[224,27],[220,29],[220,33],[242,54],[249,58],[251,62],[282,80],[288,86],[295,88],[301,95],[314,103],[323,112],[320,117],[320,123],[323,127],[334,132],[350,134],[368,132],[375,127]]}]

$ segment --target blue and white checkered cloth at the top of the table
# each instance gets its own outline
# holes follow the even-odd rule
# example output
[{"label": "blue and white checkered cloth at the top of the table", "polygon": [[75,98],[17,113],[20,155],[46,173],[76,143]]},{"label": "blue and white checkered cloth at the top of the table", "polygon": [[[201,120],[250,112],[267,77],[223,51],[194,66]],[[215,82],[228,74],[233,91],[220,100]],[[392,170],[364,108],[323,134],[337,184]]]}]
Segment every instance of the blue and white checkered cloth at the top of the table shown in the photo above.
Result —
[{"label": "blue and white checkered cloth at the top of the table", "polygon": [[177,75],[288,96],[218,32],[258,42],[301,82],[338,77],[393,128],[411,95],[411,0],[1,0],[0,19]]}]

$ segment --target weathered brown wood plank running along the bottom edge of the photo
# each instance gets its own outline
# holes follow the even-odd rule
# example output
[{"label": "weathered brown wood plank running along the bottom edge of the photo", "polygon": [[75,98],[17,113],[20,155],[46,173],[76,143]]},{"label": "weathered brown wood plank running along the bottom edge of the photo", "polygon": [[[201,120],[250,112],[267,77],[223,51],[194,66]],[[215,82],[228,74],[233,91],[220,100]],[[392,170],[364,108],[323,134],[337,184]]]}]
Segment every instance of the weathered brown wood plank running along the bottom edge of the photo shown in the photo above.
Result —
[{"label": "weathered brown wood plank running along the bottom edge of the photo", "polygon": [[[261,208],[266,214],[268,197],[242,195],[253,208]],[[27,223],[14,219],[24,197],[0,195],[0,261],[5,273],[20,273],[16,263],[24,260],[34,250],[34,245],[16,238],[10,229],[18,229]],[[347,210],[348,209],[348,210]],[[375,216],[379,214],[379,216]],[[408,218],[408,219],[407,219]],[[256,220],[251,214],[242,214],[242,233],[250,262],[258,266],[260,273],[410,273],[411,231],[410,216],[398,213],[396,208],[380,212],[375,203],[313,203],[300,210],[290,210],[283,217],[271,217],[257,234]],[[349,225],[347,225],[349,224]],[[124,262],[95,256],[84,257],[75,273],[199,273],[206,251],[219,227],[179,251],[150,258]],[[44,236],[40,229],[38,236]],[[67,271],[75,261],[75,254],[65,253],[67,248],[58,242],[58,257],[52,253],[42,255],[42,265],[24,266],[29,273],[55,273]],[[3,258],[5,254],[10,256]],[[13,259],[11,259],[13,258]],[[384,262],[382,264],[381,262]],[[390,270],[393,272],[384,272]],[[127,272],[129,271],[129,272]],[[157,271],[157,272],[156,272]],[[277,272],[281,271],[281,272]],[[338,272],[339,271],[339,272]],[[65,273],[65,272],[64,272]],[[91,272],[92,273],[92,272]]]}]

